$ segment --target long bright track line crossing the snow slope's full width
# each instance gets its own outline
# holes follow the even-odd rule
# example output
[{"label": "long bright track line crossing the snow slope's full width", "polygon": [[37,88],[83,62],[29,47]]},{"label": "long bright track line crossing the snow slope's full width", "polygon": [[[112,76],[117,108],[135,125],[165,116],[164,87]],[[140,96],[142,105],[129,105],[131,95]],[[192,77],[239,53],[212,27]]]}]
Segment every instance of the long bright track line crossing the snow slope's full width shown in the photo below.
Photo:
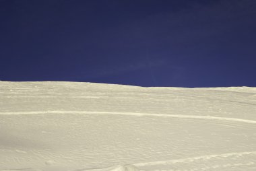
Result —
[{"label": "long bright track line crossing the snow slope's full width", "polygon": [[121,114],[128,116],[158,116],[158,117],[172,117],[172,118],[201,118],[220,121],[234,121],[240,123],[256,124],[256,121],[247,120],[243,118],[226,118],[218,116],[198,116],[198,115],[181,115],[181,114],[158,114],[158,113],[134,113],[134,112],[90,112],[90,111],[61,111],[61,110],[48,110],[48,111],[31,111],[31,112],[0,112],[1,114]]}]

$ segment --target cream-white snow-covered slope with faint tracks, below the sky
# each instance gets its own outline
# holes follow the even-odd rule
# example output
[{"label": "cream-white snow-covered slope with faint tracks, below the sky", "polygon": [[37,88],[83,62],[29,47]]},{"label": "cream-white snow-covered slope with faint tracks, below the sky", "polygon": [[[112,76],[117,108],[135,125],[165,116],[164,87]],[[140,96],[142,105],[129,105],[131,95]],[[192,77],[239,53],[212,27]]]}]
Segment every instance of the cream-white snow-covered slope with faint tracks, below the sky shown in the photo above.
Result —
[{"label": "cream-white snow-covered slope with faint tracks, below the sky", "polygon": [[256,170],[256,88],[0,81],[0,171]]}]

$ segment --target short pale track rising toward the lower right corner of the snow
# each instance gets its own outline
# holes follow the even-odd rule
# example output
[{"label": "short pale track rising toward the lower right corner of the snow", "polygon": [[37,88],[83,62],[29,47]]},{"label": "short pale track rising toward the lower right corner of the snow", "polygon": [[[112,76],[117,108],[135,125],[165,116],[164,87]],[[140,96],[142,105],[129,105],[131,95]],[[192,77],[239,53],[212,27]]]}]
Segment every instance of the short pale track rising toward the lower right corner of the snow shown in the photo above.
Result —
[{"label": "short pale track rising toward the lower right corner of the snow", "polygon": [[245,152],[238,152],[238,153],[222,153],[222,154],[213,154],[207,156],[197,156],[193,158],[182,158],[177,160],[162,160],[156,162],[143,162],[133,164],[134,166],[155,166],[158,164],[177,164],[177,163],[184,163],[184,162],[195,162],[197,160],[210,160],[212,158],[228,158],[230,156],[243,156],[249,154],[256,154],[256,151],[245,151]]}]

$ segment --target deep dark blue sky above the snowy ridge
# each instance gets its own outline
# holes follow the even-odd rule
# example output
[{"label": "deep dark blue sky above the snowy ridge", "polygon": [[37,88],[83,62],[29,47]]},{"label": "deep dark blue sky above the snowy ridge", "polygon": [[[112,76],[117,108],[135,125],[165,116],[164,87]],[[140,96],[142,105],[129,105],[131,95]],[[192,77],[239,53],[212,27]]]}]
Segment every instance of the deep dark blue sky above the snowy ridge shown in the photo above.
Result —
[{"label": "deep dark blue sky above the snowy ridge", "polygon": [[256,87],[255,0],[0,0],[0,80]]}]

